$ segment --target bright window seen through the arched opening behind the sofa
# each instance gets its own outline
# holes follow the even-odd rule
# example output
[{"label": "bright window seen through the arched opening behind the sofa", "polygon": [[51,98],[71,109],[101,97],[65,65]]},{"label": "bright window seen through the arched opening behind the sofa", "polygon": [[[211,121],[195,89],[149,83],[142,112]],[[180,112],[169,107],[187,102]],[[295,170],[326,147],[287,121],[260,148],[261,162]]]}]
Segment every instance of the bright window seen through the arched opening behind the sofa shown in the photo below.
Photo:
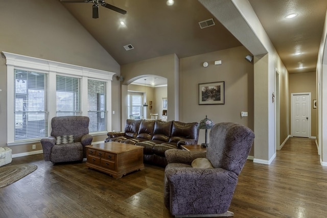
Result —
[{"label": "bright window seen through the arched opening behind the sofa", "polygon": [[128,117],[134,119],[143,117],[143,93],[128,92],[127,98]]}]

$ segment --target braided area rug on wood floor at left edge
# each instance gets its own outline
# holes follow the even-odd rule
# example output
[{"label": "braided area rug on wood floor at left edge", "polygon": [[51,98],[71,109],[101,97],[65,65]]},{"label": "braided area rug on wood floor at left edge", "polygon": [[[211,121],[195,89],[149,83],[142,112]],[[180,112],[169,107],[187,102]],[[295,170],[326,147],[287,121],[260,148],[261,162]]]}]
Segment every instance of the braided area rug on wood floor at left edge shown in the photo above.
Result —
[{"label": "braided area rug on wood floor at left edge", "polygon": [[19,164],[0,167],[0,188],[29,175],[37,169],[34,164]]}]

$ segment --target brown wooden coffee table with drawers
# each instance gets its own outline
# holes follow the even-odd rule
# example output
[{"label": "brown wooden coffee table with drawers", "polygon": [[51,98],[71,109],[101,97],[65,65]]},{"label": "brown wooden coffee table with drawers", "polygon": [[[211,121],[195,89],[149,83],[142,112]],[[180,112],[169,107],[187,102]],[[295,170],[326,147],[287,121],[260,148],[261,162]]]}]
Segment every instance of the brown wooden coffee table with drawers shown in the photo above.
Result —
[{"label": "brown wooden coffee table with drawers", "polygon": [[111,141],[85,147],[86,166],[107,173],[115,179],[144,169],[142,146]]}]

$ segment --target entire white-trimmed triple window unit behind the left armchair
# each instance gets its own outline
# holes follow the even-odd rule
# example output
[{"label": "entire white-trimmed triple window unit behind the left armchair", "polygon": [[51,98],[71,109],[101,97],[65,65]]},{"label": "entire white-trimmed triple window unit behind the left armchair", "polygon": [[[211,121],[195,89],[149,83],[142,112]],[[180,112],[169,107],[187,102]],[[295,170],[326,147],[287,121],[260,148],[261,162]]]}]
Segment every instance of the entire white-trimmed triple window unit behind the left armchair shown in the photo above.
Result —
[{"label": "entire white-trimmed triple window unit behind the left armchair", "polygon": [[3,52],[7,65],[7,145],[50,135],[54,116],[90,117],[89,132],[111,131],[113,72]]}]

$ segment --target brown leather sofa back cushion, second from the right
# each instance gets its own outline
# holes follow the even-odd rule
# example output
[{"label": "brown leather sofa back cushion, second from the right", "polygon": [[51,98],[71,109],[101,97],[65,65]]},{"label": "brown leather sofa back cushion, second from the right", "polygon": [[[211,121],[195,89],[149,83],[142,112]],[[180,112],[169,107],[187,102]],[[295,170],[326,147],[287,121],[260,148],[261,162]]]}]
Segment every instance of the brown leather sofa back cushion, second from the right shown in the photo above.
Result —
[{"label": "brown leather sofa back cushion, second from the right", "polygon": [[172,125],[172,121],[155,120],[152,140],[169,142]]}]

